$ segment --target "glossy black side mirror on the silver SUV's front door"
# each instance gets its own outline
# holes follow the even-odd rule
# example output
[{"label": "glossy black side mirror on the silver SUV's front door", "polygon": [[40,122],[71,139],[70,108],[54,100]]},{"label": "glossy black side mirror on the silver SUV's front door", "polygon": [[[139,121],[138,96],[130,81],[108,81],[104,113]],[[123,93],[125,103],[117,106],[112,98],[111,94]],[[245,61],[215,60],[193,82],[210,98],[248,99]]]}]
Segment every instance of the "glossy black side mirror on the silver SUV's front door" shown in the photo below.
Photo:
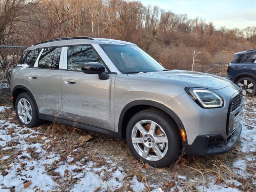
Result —
[{"label": "glossy black side mirror on the silver SUV's front door", "polygon": [[105,73],[105,67],[103,64],[100,63],[86,63],[82,66],[82,72],[86,74],[98,74],[100,80],[107,80],[109,79],[109,75]]}]

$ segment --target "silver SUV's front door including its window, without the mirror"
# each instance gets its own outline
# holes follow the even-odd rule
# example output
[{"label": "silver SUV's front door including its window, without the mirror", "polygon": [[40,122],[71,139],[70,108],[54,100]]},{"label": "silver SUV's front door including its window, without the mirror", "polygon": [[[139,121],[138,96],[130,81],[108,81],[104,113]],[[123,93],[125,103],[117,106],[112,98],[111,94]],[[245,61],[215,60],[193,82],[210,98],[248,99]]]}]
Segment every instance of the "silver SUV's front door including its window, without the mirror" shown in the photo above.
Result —
[{"label": "silver SUV's front door including its window, without the mirror", "polygon": [[[67,69],[61,74],[61,98],[64,118],[74,122],[114,130],[114,80],[100,80],[98,74],[81,71],[86,63],[102,63],[91,45],[66,48]],[[65,63],[65,61],[64,61]]]}]

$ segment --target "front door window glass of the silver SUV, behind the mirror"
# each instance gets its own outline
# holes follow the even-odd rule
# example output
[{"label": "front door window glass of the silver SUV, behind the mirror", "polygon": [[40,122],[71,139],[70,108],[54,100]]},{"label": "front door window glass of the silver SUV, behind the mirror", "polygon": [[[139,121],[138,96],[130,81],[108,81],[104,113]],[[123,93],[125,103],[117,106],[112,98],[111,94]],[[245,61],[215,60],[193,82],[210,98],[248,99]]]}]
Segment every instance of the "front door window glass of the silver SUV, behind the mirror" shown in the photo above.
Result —
[{"label": "front door window glass of the silver SUV, behind the mirror", "polygon": [[90,45],[68,47],[68,70],[81,71],[86,63],[101,63],[99,56]]}]

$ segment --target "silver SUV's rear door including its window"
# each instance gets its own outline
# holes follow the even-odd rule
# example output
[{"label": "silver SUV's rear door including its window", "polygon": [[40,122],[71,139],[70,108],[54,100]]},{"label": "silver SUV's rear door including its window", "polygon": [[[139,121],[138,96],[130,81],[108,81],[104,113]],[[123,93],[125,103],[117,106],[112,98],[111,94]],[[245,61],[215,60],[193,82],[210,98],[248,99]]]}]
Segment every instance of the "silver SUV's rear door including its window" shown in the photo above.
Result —
[{"label": "silver SUV's rear door including its window", "polygon": [[34,67],[27,68],[25,86],[32,92],[40,114],[62,116],[60,75],[62,48],[41,50]]}]

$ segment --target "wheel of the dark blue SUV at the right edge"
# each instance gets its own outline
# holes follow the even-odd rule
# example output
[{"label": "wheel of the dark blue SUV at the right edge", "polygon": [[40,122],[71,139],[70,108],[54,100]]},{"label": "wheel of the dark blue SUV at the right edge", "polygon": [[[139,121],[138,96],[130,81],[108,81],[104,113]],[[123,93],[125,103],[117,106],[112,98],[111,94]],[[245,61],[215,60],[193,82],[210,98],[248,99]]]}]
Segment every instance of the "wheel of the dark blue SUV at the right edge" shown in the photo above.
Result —
[{"label": "wheel of the dark blue SUV at the right edge", "polygon": [[243,77],[236,81],[236,84],[243,90],[244,96],[254,96],[256,94],[256,80],[251,77]]}]

